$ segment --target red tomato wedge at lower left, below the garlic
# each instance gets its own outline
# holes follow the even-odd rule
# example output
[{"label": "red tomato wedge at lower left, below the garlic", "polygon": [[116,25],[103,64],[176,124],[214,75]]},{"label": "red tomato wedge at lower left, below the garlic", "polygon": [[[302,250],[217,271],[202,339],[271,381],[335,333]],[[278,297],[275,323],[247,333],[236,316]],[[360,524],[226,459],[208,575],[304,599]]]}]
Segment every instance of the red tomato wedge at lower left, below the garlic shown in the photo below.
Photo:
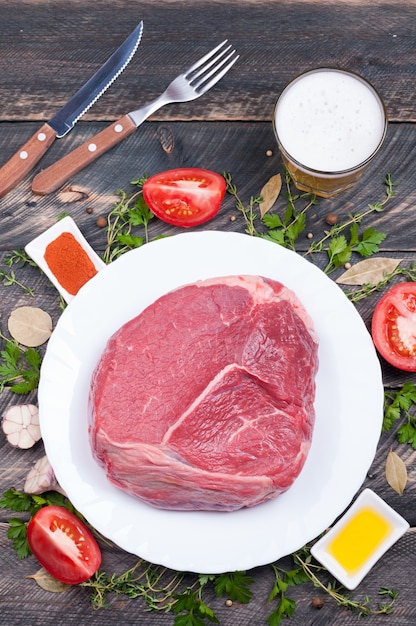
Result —
[{"label": "red tomato wedge at lower left, below the garlic", "polygon": [[75,585],[90,578],[101,564],[101,552],[88,528],[61,506],[39,509],[27,526],[29,546],[44,569]]}]

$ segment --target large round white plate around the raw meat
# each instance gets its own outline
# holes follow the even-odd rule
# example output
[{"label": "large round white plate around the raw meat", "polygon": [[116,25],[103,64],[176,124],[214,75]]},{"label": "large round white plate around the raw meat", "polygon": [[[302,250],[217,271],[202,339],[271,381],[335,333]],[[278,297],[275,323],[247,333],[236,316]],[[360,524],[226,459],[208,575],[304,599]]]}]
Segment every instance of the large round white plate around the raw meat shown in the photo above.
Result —
[{"label": "large round white plate around the raw meat", "polygon": [[[232,274],[280,280],[298,294],[314,320],[320,367],[311,450],[295,483],[273,501],[233,513],[158,510],[112,486],[92,458],[87,432],[91,374],[110,335],[156,298],[189,282]],[[220,573],[291,554],[344,511],[375,455],[383,384],[361,317],[323,272],[269,241],[204,231],[128,252],[82,287],[49,340],[39,409],[57,479],[98,531],[153,563]]]}]

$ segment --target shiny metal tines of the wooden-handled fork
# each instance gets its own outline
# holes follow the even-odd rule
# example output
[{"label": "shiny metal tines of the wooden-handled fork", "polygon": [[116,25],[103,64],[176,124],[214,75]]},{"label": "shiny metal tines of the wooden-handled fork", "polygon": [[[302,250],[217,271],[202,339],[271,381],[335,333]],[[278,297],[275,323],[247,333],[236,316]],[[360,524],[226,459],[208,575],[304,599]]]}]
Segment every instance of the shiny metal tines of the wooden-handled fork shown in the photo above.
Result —
[{"label": "shiny metal tines of the wooden-handled fork", "polygon": [[195,91],[201,93],[208,91],[228,72],[239,58],[240,55],[236,53],[231,45],[226,45],[227,42],[228,39],[225,39],[185,72],[184,77]]}]

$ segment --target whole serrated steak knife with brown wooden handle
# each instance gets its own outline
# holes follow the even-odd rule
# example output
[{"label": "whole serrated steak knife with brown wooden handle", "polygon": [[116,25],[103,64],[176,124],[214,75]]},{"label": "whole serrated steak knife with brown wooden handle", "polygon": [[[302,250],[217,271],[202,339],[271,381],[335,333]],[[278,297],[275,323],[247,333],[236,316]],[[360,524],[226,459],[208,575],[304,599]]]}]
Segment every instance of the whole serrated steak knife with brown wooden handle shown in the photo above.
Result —
[{"label": "whole serrated steak knife with brown wooden handle", "polygon": [[110,87],[131,61],[140,43],[143,21],[72,98],[0,168],[0,198],[30,172],[56,138],[64,137]]}]

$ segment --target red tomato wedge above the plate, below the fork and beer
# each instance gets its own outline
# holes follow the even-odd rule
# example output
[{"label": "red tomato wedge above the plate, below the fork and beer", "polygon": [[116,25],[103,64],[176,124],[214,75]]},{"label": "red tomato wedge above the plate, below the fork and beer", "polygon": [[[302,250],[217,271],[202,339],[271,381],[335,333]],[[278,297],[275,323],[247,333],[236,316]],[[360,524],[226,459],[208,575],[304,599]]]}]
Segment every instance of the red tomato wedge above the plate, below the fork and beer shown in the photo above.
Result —
[{"label": "red tomato wedge above the plate, below the fork and beer", "polygon": [[216,172],[189,167],[151,176],[143,185],[143,197],[159,219],[189,228],[218,213],[225,190],[225,180]]}]

